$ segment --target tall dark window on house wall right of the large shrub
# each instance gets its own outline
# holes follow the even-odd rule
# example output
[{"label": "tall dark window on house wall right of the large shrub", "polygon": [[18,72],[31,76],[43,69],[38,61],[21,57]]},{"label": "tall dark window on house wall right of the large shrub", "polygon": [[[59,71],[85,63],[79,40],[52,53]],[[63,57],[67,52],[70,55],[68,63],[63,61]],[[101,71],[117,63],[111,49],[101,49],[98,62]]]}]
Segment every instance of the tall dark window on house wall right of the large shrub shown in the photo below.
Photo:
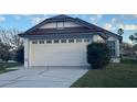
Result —
[{"label": "tall dark window on house wall right of the large shrub", "polygon": [[115,41],[107,41],[107,45],[110,49],[112,57],[116,56]]}]

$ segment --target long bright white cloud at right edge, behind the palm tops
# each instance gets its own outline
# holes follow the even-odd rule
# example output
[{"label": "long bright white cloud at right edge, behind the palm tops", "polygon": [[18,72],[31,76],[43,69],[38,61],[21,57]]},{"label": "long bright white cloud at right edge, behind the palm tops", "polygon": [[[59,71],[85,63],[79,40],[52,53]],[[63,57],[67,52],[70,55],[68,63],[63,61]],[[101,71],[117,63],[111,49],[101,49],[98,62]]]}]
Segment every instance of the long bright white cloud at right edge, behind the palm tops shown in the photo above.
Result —
[{"label": "long bright white cloud at right edge, behind the palm tops", "polygon": [[137,24],[118,24],[118,27],[122,27],[126,31],[135,31],[137,30]]}]

